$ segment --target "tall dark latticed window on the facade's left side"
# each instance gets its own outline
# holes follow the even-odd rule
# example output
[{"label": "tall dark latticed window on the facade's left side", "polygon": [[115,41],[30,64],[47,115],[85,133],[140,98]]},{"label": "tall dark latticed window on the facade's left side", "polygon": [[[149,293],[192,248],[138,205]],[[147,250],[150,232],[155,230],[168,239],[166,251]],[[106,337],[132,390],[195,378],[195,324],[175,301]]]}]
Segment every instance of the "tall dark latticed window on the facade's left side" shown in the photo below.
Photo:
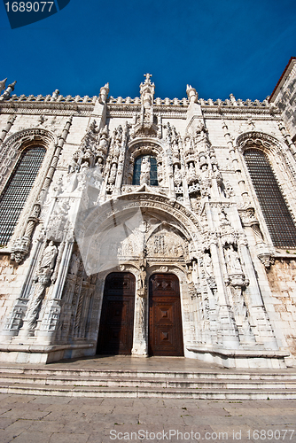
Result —
[{"label": "tall dark latticed window on the facade's left side", "polygon": [[7,245],[42,165],[46,149],[27,148],[21,152],[12,175],[0,196],[0,245]]}]

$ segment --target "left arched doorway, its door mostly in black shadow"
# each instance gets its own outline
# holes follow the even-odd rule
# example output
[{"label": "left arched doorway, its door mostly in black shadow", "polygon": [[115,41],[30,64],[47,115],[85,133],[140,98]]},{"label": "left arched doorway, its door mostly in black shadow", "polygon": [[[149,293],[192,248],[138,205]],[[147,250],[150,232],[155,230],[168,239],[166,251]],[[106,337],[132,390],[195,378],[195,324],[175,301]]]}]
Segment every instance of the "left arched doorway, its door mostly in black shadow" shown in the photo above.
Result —
[{"label": "left arched doorway, its door mostly in black shadow", "polygon": [[129,272],[113,272],[106,276],[97,354],[131,354],[135,289],[136,278]]}]

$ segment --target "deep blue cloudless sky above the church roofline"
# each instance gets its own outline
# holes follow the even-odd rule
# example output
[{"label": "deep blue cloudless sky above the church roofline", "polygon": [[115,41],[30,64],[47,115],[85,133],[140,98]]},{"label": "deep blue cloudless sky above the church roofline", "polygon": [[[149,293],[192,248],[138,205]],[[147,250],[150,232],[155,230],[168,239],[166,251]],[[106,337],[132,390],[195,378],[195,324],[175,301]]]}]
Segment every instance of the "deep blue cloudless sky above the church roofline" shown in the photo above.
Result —
[{"label": "deep blue cloudless sky above the church roofline", "polygon": [[[11,29],[0,4],[0,77],[15,93],[264,99],[296,56],[295,0],[71,0],[48,19]],[[8,83],[6,83],[8,84]]]}]

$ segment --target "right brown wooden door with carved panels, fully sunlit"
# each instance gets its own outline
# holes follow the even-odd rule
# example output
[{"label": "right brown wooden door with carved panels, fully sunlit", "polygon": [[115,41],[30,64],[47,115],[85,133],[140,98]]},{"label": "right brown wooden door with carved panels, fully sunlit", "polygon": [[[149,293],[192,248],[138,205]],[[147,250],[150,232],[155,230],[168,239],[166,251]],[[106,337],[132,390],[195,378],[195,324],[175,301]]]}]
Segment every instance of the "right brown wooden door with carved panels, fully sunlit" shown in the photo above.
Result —
[{"label": "right brown wooden door with carved panels, fully sunlit", "polygon": [[149,281],[150,355],[183,356],[180,289],[174,274],[153,274]]}]

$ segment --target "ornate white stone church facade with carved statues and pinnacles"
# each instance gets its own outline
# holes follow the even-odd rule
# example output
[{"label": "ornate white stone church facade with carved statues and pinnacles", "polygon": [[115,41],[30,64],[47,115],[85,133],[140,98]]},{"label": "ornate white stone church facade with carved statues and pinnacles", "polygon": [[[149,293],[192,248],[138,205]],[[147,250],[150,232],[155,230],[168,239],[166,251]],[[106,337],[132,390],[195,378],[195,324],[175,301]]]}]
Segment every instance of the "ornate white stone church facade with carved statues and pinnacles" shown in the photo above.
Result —
[{"label": "ornate white stone church facade with carved statues and pinnacles", "polygon": [[108,97],[109,84],[98,97],[3,88],[2,196],[23,152],[46,154],[0,250],[0,359],[96,354],[105,279],[129,273],[131,354],[151,353],[152,276],[164,276],[165,291],[174,274],[185,357],[294,365],[296,243],[271,236],[245,162],[245,152],[264,152],[294,223],[296,148],[283,109],[232,94],[204,100],[190,85],[182,100],[155,98],[151,76],[133,99]]}]

